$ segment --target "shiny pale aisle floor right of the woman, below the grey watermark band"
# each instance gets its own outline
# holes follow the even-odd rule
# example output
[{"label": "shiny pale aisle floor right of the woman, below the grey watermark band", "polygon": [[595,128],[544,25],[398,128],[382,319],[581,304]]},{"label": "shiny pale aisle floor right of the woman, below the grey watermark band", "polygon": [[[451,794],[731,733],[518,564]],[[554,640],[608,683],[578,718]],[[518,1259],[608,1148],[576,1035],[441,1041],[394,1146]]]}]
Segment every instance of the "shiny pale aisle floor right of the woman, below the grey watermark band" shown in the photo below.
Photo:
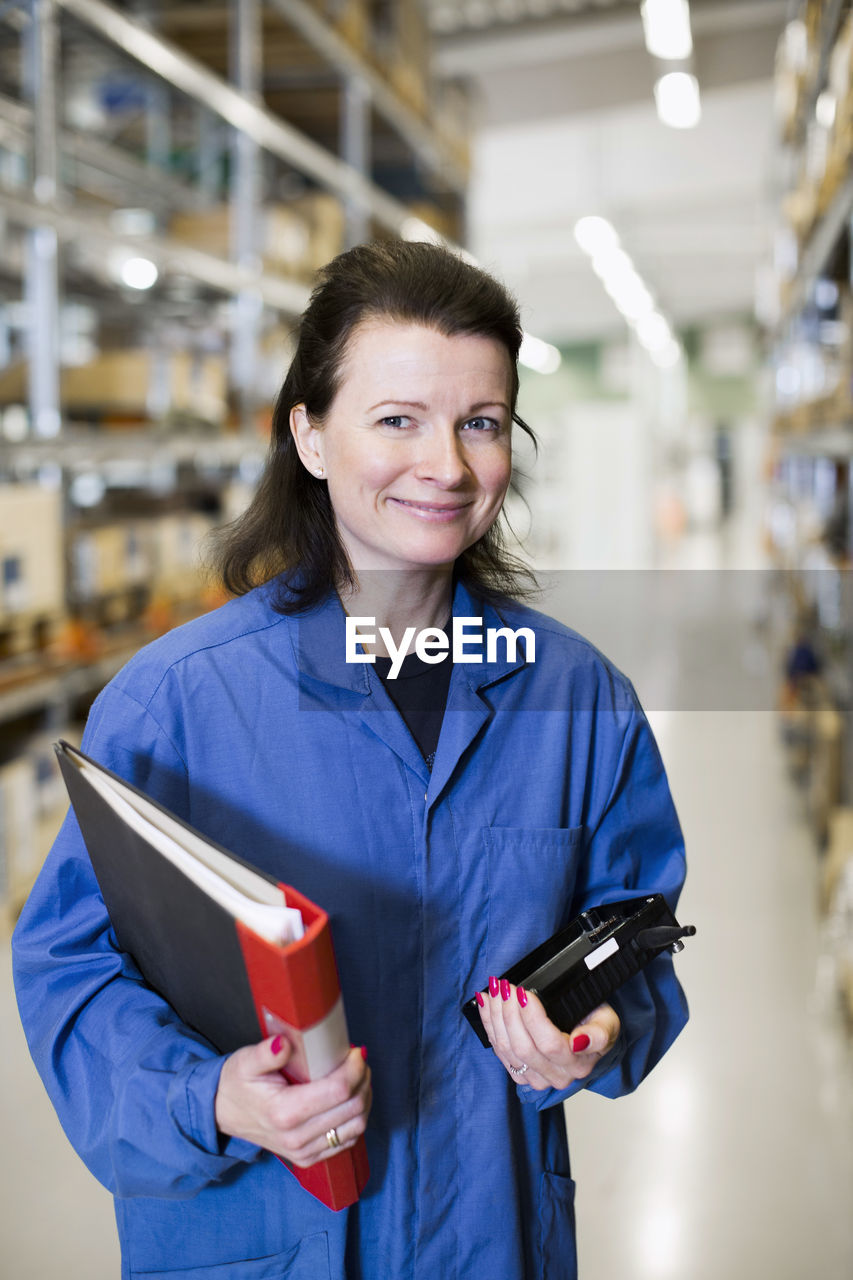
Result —
[{"label": "shiny pale aisle floor right of the woman, below the grey watermark band", "polygon": [[[729,620],[706,636],[730,640]],[[724,636],[724,631],[726,635]],[[652,713],[685,831],[690,1023],[629,1098],[567,1107],[583,1280],[853,1275],[853,1041],[776,717]]]}]

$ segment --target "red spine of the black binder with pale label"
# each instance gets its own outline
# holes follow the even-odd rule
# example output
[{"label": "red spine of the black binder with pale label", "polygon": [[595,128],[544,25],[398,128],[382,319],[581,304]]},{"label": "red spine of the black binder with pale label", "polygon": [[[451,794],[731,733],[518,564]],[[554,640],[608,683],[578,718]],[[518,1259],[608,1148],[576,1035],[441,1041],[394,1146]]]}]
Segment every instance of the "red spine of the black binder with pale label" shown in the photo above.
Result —
[{"label": "red spine of the black binder with pale label", "polygon": [[[287,1036],[293,1053],[283,1074],[300,1084],[334,1070],[346,1057],[350,1039],[329,918],[296,890],[279,887],[287,905],[302,911],[305,936],[283,947],[257,937],[240,920],[237,934],[261,1034]],[[305,1190],[333,1210],[353,1204],[370,1174],[364,1138],[310,1169],[289,1162],[287,1167]]]}]

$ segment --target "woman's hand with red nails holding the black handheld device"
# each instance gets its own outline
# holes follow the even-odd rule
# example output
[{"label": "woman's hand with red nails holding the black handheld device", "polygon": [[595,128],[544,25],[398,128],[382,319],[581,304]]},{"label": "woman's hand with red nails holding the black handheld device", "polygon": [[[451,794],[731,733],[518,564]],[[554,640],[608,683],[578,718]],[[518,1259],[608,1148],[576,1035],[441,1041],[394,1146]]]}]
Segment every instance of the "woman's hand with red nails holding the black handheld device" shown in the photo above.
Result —
[{"label": "woman's hand with red nails holding the black handheld device", "polygon": [[599,1005],[566,1033],[555,1027],[532,992],[497,979],[489,980],[489,992],[482,996],[483,1027],[516,1084],[566,1089],[585,1079],[619,1037],[619,1015],[610,1005]]}]

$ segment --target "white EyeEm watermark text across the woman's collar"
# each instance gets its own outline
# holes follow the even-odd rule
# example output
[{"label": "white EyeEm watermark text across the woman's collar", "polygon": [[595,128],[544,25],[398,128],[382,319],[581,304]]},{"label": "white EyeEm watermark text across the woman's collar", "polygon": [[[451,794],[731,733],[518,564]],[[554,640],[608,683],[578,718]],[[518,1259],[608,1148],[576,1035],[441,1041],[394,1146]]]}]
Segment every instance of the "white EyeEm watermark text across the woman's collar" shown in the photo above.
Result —
[{"label": "white EyeEm watermark text across the woman's collar", "polygon": [[[347,662],[375,662],[375,654],[361,653],[357,649],[361,644],[375,644],[375,618],[346,620],[346,660]],[[497,662],[498,640],[506,645],[506,655],[510,662],[515,662],[519,636],[524,636],[525,658],[528,662],[537,660],[537,637],[530,627],[487,627],[485,628],[485,662]],[[415,627],[406,627],[400,644],[394,644],[388,627],[379,627],[382,639],[391,657],[389,680],[396,680],[400,675],[403,658],[409,653],[412,641],[414,650],[421,662],[443,662],[448,653],[453,662],[483,662],[483,620],[482,618],[453,618],[452,639],[441,627],[424,627],[416,631]]]}]

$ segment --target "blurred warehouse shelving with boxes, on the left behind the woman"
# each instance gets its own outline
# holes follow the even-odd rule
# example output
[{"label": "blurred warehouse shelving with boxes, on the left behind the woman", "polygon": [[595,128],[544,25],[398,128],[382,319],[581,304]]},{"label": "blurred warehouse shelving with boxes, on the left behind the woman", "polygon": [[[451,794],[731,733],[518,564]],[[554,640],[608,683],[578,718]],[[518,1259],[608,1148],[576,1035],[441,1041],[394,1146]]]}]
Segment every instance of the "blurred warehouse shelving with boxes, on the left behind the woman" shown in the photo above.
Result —
[{"label": "blurred warehouse shelving with boxes, on the left behind the woman", "polygon": [[[81,548],[127,525],[137,559],[142,545],[156,563],[169,557],[155,547],[163,530],[174,540],[182,521],[209,527],[238,509],[263,466],[289,325],[320,261],[375,234],[462,236],[461,97],[455,120],[430,97],[425,40],[415,41],[419,68],[393,46],[418,36],[416,4],[0,4],[0,503],[10,486],[47,485],[69,557],[63,608],[27,613],[20,556],[4,547],[0,521],[0,810],[6,782],[28,785],[13,768],[27,744],[41,762],[45,730],[85,712],[158,630],[216,599],[201,580],[193,594],[186,575],[165,603],[156,582],[142,590],[136,577],[124,593],[88,598],[74,579]],[[397,28],[406,13],[414,27]],[[371,33],[371,22],[384,26]],[[87,123],[93,83],[118,106]],[[147,210],[147,223],[133,210]],[[310,236],[306,250],[296,237],[279,253],[288,218]],[[279,237],[272,255],[261,234]],[[158,269],[145,296],[117,284],[122,255]],[[95,317],[86,340],[105,352],[83,374],[60,360],[72,310]],[[111,407],[69,399],[110,358],[133,378],[147,369],[152,394]],[[210,362],[228,376],[206,408],[196,390]],[[76,497],[83,490],[91,506]],[[65,626],[69,605],[72,621],[100,630],[81,639]],[[0,901],[3,842],[0,829]]]}]

